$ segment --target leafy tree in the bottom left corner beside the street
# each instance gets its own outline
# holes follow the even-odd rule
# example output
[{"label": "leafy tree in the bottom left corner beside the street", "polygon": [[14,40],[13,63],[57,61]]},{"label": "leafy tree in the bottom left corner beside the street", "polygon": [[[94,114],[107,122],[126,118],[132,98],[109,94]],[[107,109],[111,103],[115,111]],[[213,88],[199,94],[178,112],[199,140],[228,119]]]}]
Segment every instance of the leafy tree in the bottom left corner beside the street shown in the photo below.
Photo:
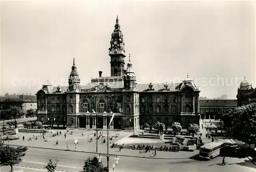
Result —
[{"label": "leafy tree in the bottom left corner beside the street", "polygon": [[10,146],[0,147],[0,166],[10,166],[13,172],[13,166],[22,162],[22,157],[26,155],[28,147],[19,146],[17,148]]}]

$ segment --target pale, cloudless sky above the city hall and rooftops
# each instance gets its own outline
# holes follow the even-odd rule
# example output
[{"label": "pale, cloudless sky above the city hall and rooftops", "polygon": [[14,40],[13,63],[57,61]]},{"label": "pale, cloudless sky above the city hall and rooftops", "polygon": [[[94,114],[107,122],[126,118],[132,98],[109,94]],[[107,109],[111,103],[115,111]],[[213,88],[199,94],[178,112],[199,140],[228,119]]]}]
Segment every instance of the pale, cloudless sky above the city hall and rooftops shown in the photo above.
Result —
[{"label": "pale, cloudless sky above the city hall and rooftops", "polygon": [[244,76],[256,87],[253,2],[34,0],[1,3],[0,94],[66,86],[73,58],[82,85],[110,76],[117,15],[137,83],[188,74],[200,96],[229,99]]}]

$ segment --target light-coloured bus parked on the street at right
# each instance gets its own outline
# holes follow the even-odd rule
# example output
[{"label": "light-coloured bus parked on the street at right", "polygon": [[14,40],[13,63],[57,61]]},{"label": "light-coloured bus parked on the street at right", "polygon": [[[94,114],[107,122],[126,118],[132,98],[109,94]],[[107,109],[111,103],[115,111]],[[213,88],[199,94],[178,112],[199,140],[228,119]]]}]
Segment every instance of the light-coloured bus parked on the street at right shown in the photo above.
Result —
[{"label": "light-coloured bus parked on the street at right", "polygon": [[220,149],[225,146],[222,141],[214,141],[200,147],[199,157],[211,160],[220,155]]}]

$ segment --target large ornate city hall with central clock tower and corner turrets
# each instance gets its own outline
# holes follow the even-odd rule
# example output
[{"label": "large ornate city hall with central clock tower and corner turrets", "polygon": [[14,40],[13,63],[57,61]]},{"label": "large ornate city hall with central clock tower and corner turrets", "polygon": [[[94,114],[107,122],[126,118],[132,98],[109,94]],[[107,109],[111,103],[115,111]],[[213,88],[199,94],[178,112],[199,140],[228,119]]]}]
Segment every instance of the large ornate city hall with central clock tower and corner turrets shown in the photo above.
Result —
[{"label": "large ornate city hall with central clock tower and corner turrets", "polygon": [[73,61],[68,87],[42,85],[37,92],[37,120],[51,126],[67,128],[110,128],[139,130],[140,125],[157,121],[170,127],[173,122],[182,126],[199,124],[200,89],[193,79],[180,83],[137,84],[129,56],[125,65],[123,34],[118,18],[111,34],[109,48],[111,75],[92,78],[87,85],[80,79]]}]

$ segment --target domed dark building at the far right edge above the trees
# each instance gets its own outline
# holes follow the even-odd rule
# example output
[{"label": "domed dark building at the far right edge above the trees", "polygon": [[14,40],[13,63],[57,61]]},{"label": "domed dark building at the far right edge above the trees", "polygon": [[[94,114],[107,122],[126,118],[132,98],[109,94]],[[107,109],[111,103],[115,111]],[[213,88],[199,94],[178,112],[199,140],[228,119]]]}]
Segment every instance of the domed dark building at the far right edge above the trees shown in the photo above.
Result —
[{"label": "domed dark building at the far right edge above the trees", "polygon": [[238,88],[237,99],[238,106],[256,103],[256,88],[253,89],[245,77]]}]

